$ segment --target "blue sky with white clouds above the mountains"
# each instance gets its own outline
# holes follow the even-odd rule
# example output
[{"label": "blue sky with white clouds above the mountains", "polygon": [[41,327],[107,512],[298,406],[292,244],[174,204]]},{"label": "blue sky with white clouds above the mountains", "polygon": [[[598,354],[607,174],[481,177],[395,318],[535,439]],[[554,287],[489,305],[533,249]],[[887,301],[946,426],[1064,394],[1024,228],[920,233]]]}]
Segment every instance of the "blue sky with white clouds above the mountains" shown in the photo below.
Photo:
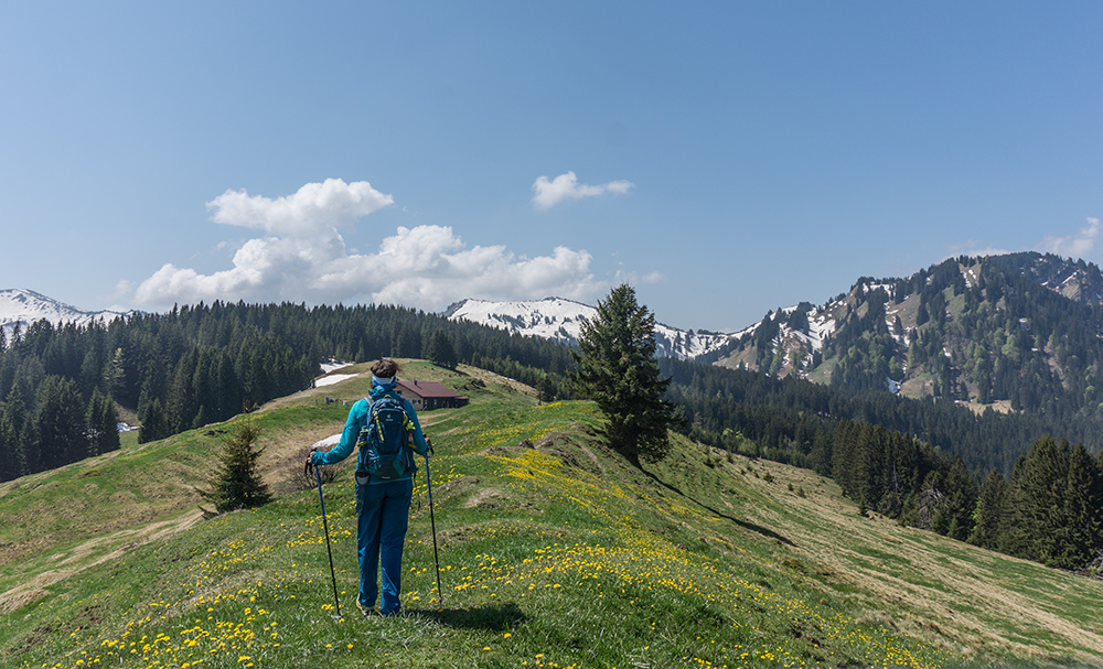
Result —
[{"label": "blue sky with white clouds above the mountains", "polygon": [[737,330],[1100,262],[1103,3],[0,4],[0,288],[593,303]]}]

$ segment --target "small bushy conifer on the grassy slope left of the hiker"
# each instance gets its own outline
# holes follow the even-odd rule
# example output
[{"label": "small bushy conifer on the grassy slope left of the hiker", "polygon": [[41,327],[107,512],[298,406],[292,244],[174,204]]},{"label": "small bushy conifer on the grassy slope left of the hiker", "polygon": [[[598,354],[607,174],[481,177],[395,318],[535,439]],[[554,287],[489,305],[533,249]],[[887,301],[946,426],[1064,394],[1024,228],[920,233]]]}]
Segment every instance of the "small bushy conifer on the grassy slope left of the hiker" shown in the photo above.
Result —
[{"label": "small bushy conifer on the grassy slope left of the hiker", "polygon": [[214,511],[203,509],[205,516],[213,517],[237,509],[251,509],[271,500],[268,486],[257,471],[257,461],[264,449],[257,449],[260,428],[253,422],[242,424],[233,435],[223,442],[222,466],[212,482],[210,492],[200,495]]}]

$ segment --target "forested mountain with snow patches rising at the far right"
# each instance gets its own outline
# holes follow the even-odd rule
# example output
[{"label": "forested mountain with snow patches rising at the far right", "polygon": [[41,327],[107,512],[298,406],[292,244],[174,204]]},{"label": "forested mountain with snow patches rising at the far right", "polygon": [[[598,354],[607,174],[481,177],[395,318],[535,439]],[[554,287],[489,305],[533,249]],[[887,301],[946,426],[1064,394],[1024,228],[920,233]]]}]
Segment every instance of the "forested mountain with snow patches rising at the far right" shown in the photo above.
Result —
[{"label": "forested mountain with snow patches rising at the far right", "polygon": [[714,358],[852,392],[1094,413],[1101,293],[1103,273],[1082,260],[951,258],[907,278],[861,278],[820,306],[771,312]]}]

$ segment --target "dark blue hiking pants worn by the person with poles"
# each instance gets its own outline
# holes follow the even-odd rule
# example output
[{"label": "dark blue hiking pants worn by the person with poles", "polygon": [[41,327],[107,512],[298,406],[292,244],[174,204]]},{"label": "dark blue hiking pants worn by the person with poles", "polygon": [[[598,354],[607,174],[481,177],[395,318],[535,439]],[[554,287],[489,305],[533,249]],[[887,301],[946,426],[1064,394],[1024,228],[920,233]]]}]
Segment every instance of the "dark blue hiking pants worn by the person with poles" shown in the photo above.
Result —
[{"label": "dark blue hiking pants worn by the person with poles", "polygon": [[360,555],[360,605],[375,608],[379,600],[379,562],[383,562],[383,614],[398,613],[403,587],[403,548],[409,525],[414,482],[410,478],[356,484],[358,524],[356,548]]}]

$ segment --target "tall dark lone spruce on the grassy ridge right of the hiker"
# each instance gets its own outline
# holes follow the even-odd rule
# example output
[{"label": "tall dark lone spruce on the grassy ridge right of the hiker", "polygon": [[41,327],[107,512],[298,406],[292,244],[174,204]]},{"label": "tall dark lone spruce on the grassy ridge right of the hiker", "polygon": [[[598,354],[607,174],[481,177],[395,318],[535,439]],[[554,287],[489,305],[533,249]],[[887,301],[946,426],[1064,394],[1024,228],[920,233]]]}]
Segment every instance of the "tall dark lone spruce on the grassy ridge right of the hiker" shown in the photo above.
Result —
[{"label": "tall dark lone spruce on the grassy ridge right of the hiker", "polygon": [[634,289],[620,285],[598,302],[570,352],[575,391],[598,403],[609,443],[636,464],[662,460],[670,449],[674,412],[663,393],[671,380],[660,378],[655,347],[654,314],[636,303]]}]

